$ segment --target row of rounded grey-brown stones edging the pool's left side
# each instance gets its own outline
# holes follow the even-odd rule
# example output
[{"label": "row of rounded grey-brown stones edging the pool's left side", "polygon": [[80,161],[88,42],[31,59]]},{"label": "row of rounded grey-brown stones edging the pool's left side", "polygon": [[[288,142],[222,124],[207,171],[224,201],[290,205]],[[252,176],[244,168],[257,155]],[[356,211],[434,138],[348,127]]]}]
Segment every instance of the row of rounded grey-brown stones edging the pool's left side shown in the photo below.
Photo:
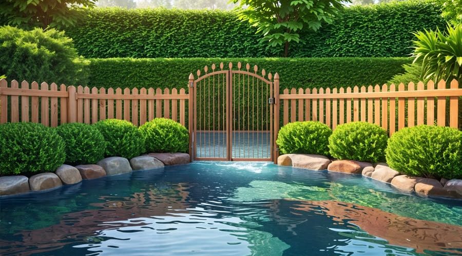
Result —
[{"label": "row of rounded grey-brown stones edging the pool's left side", "polygon": [[133,157],[128,160],[123,157],[108,157],[97,164],[81,164],[71,166],[63,164],[55,173],[40,173],[27,178],[23,175],[0,177],[0,197],[14,196],[30,191],[51,190],[64,185],[70,185],[111,175],[133,172],[133,170],[162,168],[166,165],[189,163],[189,155],[185,153],[150,153]]}]

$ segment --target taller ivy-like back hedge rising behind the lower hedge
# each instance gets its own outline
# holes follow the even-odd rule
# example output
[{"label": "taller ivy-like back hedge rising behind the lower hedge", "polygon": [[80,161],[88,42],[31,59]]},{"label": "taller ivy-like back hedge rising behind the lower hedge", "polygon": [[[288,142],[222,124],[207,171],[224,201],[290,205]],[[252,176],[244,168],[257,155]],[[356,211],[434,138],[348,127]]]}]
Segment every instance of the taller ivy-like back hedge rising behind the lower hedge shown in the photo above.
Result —
[{"label": "taller ivy-like back hedge rising behind the lower hedge", "polygon": [[[406,1],[345,8],[332,25],[301,35],[291,57],[402,57],[413,35],[445,29],[439,8]],[[235,13],[219,10],[95,8],[66,34],[87,58],[279,57],[283,47],[266,49],[261,34]]]}]

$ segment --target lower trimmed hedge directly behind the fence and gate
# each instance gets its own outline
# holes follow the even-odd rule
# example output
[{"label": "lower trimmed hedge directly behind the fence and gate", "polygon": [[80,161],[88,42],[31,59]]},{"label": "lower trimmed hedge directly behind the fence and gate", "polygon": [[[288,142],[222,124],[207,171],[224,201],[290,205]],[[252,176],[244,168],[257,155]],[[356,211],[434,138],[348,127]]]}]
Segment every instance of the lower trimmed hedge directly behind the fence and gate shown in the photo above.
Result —
[{"label": "lower trimmed hedge directly behind the fence and gate", "polygon": [[[121,88],[187,88],[190,73],[211,63],[225,67],[229,61],[257,65],[267,73],[278,72],[280,89],[340,88],[383,84],[402,73],[409,58],[184,58],[184,59],[90,59],[90,87]],[[203,72],[202,72],[203,73]]]}]

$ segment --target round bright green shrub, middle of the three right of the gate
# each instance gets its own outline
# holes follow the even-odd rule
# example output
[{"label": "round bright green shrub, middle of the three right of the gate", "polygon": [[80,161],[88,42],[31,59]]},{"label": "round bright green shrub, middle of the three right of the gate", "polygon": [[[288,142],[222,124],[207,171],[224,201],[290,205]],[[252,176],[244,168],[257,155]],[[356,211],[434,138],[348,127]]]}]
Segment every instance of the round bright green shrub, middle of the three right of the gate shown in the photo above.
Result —
[{"label": "round bright green shrub, middle of the three right of the gate", "polygon": [[329,152],[337,159],[378,162],[384,160],[387,140],[387,132],[376,124],[340,124],[329,138]]}]

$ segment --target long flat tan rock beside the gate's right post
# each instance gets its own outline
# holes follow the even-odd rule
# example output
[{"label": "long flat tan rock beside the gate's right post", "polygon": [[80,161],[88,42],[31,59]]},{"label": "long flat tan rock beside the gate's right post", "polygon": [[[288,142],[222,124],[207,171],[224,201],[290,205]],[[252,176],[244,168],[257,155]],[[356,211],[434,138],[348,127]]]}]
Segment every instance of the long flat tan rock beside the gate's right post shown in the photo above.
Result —
[{"label": "long flat tan rock beside the gate's right post", "polygon": [[[321,155],[310,155],[310,154],[286,154],[290,158],[291,165],[297,168],[310,169],[310,170],[325,170],[331,160]],[[281,159],[288,164],[287,159]],[[279,161],[279,158],[278,158]]]}]

